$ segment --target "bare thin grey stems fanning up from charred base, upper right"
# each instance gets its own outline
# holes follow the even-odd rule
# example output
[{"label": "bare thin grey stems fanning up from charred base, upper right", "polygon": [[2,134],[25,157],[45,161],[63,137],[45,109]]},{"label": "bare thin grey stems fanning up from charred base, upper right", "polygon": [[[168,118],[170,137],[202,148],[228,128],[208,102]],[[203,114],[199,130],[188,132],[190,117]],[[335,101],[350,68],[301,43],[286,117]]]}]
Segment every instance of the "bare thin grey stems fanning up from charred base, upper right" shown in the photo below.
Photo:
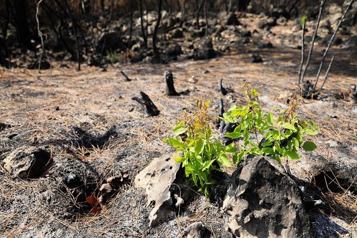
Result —
[{"label": "bare thin grey stems fanning up from charred base, upper right", "polygon": [[310,64],[310,60],[311,60],[311,56],[312,56],[312,52],[313,52],[313,48],[314,48],[314,42],[315,42],[315,39],[316,39],[316,35],[317,35],[317,30],[318,30],[318,27],[319,27],[319,23],[320,23],[320,20],[321,20],[321,15],[322,15],[322,9],[324,7],[326,3],[326,0],[321,0],[321,3],[320,3],[320,9],[319,9],[319,15],[317,17],[317,20],[316,20],[316,27],[315,27],[315,30],[314,30],[314,34],[313,34],[313,37],[312,37],[312,41],[311,41],[311,46],[310,46],[310,49],[309,49],[309,54],[308,54],[308,58],[307,58],[307,61],[305,63],[305,67],[304,69],[302,70],[302,67],[304,65],[304,30],[305,30],[305,23],[303,22],[302,24],[302,39],[301,39],[301,63],[300,63],[300,66],[299,66],[299,71],[298,71],[298,84],[299,84],[299,87],[300,87],[300,95],[304,98],[313,98],[314,96],[317,96],[318,94],[321,93],[321,90],[323,88],[323,86],[325,85],[325,82],[327,80],[327,76],[328,76],[328,73],[329,73],[329,70],[331,68],[331,65],[335,59],[335,57],[332,57],[331,60],[330,60],[330,63],[327,67],[327,70],[325,72],[325,75],[323,77],[323,82],[320,86],[320,88],[317,90],[316,87],[317,87],[317,82],[319,81],[319,77],[320,77],[320,74],[321,74],[321,69],[322,69],[322,66],[325,62],[325,58],[327,56],[327,53],[328,53],[328,50],[332,44],[332,42],[334,41],[335,39],[335,36],[336,36],[336,33],[337,31],[339,30],[340,28],[340,25],[343,21],[343,19],[345,18],[346,16],[346,13],[347,11],[349,10],[349,8],[351,7],[352,3],[353,3],[353,0],[350,0],[340,21],[338,22],[337,24],[337,27],[334,31],[334,33],[332,34],[332,36],[330,37],[330,40],[325,48],[325,51],[323,53],[323,56],[322,56],[322,59],[321,59],[321,62],[320,62],[320,67],[317,71],[317,75],[316,75],[316,80],[315,82],[310,82],[310,81],[306,81],[305,83],[303,83],[303,79],[304,79],[304,76],[305,76],[305,73],[309,67],[309,64]]}]

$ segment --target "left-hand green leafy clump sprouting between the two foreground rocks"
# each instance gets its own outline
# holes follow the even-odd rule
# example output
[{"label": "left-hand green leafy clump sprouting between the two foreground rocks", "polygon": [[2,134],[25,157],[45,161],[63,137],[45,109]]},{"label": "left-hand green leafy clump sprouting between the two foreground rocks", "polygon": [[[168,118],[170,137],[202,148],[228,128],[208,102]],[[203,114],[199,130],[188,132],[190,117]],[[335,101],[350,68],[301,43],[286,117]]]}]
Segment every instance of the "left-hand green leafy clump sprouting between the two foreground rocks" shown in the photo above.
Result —
[{"label": "left-hand green leafy clump sprouting between the two foreground rocks", "polygon": [[165,140],[176,148],[176,154],[181,152],[174,160],[182,163],[186,176],[206,197],[215,184],[212,172],[222,171],[222,165],[232,166],[228,156],[236,151],[233,144],[223,146],[222,142],[213,136],[211,118],[207,113],[209,104],[209,100],[204,103],[197,100],[197,110],[192,115],[185,111],[183,119],[173,129],[175,137]]}]

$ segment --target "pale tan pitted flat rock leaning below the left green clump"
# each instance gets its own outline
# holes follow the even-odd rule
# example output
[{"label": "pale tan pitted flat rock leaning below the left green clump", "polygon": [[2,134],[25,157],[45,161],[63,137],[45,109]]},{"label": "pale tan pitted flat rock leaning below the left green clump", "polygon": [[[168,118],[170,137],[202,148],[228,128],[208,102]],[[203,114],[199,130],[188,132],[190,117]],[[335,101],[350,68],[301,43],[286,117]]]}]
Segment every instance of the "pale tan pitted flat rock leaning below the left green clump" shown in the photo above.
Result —
[{"label": "pale tan pitted flat rock leaning below the left green clump", "polygon": [[150,227],[174,218],[173,201],[169,190],[179,170],[180,164],[172,160],[171,155],[166,154],[154,158],[135,177],[135,187],[145,189],[147,206],[153,206],[149,214]]}]

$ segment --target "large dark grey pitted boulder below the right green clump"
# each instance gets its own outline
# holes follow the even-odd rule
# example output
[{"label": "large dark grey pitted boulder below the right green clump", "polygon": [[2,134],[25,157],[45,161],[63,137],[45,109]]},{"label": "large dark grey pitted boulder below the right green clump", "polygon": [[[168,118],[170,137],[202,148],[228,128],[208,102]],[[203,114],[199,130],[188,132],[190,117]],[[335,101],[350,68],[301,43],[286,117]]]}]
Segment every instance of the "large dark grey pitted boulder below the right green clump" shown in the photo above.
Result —
[{"label": "large dark grey pitted boulder below the right green clump", "polygon": [[222,209],[235,237],[312,237],[298,185],[268,157],[239,164]]}]

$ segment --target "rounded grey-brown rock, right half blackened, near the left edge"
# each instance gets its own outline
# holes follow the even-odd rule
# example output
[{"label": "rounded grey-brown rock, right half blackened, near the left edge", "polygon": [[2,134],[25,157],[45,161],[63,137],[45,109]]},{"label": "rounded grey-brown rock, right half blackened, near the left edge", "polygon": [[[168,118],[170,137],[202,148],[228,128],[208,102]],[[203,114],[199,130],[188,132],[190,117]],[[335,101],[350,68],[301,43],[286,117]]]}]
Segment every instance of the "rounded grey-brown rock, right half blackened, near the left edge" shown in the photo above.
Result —
[{"label": "rounded grey-brown rock, right half blackened, near the left edge", "polygon": [[38,147],[23,146],[12,151],[4,160],[4,168],[14,177],[38,178],[50,164],[50,154]]}]

